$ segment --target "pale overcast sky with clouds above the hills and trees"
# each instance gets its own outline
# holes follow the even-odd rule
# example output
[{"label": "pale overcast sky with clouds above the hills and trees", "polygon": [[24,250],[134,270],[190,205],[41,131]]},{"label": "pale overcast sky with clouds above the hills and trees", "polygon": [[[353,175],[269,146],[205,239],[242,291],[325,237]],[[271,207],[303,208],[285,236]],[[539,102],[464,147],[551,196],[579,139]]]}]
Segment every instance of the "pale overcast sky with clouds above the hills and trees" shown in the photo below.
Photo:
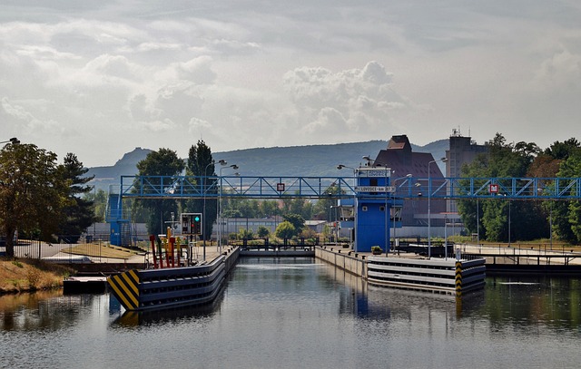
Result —
[{"label": "pale overcast sky with clouds above the hills and trees", "polygon": [[0,141],[113,165],[452,130],[581,139],[578,0],[0,0]]}]

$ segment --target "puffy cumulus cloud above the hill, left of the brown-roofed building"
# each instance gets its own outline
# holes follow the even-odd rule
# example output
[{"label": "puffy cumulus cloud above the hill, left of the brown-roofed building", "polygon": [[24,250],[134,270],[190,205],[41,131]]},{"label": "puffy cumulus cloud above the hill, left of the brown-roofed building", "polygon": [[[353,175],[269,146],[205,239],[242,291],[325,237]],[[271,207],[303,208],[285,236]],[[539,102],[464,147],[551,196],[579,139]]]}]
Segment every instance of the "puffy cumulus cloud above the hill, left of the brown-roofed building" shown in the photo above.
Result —
[{"label": "puffy cumulus cloud above the hill, left of the brown-roofed building", "polygon": [[[283,83],[300,112],[306,133],[358,133],[385,129],[398,111],[412,111],[393,87],[393,75],[378,62],[362,69],[332,73],[322,67],[302,67],[285,73]],[[318,132],[319,131],[319,132]]]}]

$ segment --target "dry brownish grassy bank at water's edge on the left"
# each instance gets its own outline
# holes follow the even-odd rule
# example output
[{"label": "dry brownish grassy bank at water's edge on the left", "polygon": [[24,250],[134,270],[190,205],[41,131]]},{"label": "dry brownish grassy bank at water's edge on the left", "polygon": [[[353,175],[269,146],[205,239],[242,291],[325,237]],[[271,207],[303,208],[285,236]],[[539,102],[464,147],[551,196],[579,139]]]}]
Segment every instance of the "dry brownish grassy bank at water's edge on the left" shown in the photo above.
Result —
[{"label": "dry brownish grassy bank at water's edge on the left", "polygon": [[0,258],[0,294],[58,288],[72,274],[70,267],[39,260]]}]

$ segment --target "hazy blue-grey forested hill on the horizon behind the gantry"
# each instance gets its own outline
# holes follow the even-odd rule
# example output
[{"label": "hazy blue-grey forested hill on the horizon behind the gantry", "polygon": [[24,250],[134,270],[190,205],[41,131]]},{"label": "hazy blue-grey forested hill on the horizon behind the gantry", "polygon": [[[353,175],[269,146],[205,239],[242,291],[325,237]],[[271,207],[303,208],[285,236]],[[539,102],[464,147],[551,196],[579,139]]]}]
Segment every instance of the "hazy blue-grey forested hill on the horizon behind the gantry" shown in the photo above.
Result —
[{"label": "hazy blue-grey forested hill on the horizon behind the gantry", "polygon": [[[212,152],[212,156],[214,160],[223,159],[229,164],[238,165],[237,172],[241,176],[348,177],[350,170],[337,170],[337,165],[357,168],[365,161],[362,160],[363,156],[374,159],[387,146],[388,141],[367,141]],[[442,158],[448,150],[448,140],[434,141],[422,147],[412,144],[412,150],[431,152],[434,158]],[[143,160],[149,152],[151,150],[136,148],[124,154],[113,166],[89,168],[87,175],[95,176],[90,184],[105,190],[110,184],[118,185],[122,175],[133,176],[137,173],[137,162]],[[222,170],[224,176],[233,173],[234,170]]]}]

